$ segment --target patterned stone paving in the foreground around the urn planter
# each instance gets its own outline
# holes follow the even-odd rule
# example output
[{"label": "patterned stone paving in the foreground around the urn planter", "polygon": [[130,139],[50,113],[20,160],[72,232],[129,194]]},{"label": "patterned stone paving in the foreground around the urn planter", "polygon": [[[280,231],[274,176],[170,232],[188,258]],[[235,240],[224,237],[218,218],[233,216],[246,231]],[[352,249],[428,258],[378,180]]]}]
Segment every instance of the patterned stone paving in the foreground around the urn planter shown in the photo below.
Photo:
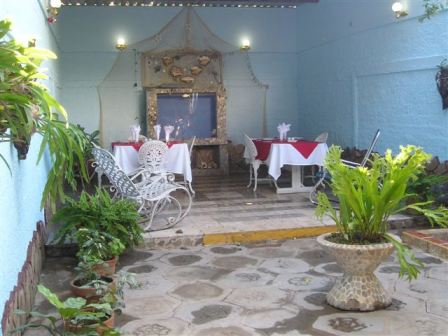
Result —
[{"label": "patterned stone paving in the foreground around the urn planter", "polygon": [[[448,263],[417,256],[426,268],[411,283],[398,279],[395,255],[378,268],[393,297],[389,308],[354,313],[325,303],[341,273],[313,238],[137,250],[120,267],[137,273],[142,287],[126,291],[117,323],[135,336],[447,335]],[[72,264],[47,259],[42,282],[69,295]],[[36,305],[49,309],[39,297]]]}]

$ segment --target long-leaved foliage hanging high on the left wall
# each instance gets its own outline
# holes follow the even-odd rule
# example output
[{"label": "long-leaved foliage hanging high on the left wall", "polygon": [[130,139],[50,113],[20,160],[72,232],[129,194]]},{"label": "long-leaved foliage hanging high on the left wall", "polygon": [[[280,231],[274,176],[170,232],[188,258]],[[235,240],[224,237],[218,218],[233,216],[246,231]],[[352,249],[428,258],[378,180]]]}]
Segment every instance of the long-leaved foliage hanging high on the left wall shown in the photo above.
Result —
[{"label": "long-leaved foliage hanging high on the left wall", "polygon": [[[65,109],[40,82],[47,79],[40,70],[42,62],[56,59],[56,55],[19,44],[7,37],[10,30],[9,20],[0,21],[0,142],[11,142],[25,154],[32,135],[42,135],[38,163],[48,149],[51,169],[41,207],[47,200],[54,207],[58,198],[65,200],[65,181],[76,186],[75,165],[84,161],[83,148],[89,140],[67,122]],[[7,164],[3,156],[0,158]],[[87,178],[85,166],[81,175]]]}]

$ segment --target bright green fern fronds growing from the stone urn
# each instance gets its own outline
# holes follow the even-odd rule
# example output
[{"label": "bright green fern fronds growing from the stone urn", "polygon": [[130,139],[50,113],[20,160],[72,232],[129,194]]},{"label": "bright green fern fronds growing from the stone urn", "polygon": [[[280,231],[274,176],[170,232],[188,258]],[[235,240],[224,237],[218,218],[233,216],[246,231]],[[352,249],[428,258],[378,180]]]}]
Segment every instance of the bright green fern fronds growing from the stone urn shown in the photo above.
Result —
[{"label": "bright green fern fronds growing from the stone urn", "polygon": [[[432,224],[448,225],[448,210],[430,209],[425,203],[402,206],[409,198],[406,192],[410,181],[414,181],[430,158],[421,148],[401,147],[393,156],[388,150],[384,157],[373,155],[371,168],[351,168],[341,161],[342,150],[332,146],[325,160],[325,167],[331,175],[331,189],[339,202],[339,211],[334,209],[324,193],[319,193],[316,215],[325,214],[336,223],[343,238],[350,244],[391,240],[387,235],[387,220],[406,208],[422,212]],[[400,259],[402,276],[412,279],[418,274],[416,263],[409,259],[410,251],[394,241]]]}]

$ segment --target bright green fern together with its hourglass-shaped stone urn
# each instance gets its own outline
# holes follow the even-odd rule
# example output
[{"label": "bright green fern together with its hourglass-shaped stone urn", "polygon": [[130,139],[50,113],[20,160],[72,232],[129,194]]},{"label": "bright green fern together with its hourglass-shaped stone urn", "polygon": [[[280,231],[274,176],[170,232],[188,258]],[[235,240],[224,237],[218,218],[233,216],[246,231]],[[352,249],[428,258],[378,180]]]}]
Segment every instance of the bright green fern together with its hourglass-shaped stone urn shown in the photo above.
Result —
[{"label": "bright green fern together with its hourglass-shaped stone urn", "polygon": [[327,294],[327,302],[344,310],[369,311],[387,307],[392,302],[373,274],[395,248],[400,262],[400,277],[408,280],[419,274],[421,262],[398,237],[389,234],[388,218],[405,209],[425,215],[431,224],[447,226],[448,211],[429,208],[428,202],[405,204],[410,181],[425,167],[430,156],[421,148],[406,146],[393,156],[374,154],[371,168],[350,168],[341,161],[342,150],[332,146],[325,160],[331,175],[331,189],[337,197],[337,211],[324,193],[318,195],[316,214],[325,214],[336,223],[337,233],[319,236],[317,241],[334,255],[344,275]]}]

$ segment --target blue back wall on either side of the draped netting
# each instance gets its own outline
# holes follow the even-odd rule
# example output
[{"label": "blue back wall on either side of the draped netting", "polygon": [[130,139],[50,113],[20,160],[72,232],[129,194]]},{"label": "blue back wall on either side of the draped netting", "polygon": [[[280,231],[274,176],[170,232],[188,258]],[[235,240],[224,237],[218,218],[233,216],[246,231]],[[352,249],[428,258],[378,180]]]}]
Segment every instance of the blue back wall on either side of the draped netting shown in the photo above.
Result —
[{"label": "blue back wall on either side of the draped netting", "polygon": [[[63,8],[59,18],[62,102],[72,111],[75,122],[89,130],[98,128],[96,86],[116,58],[117,36],[123,35],[130,44],[151,37],[179,11],[179,8]],[[213,33],[236,46],[242,36],[250,37],[253,68],[257,77],[269,85],[269,134],[275,135],[276,126],[283,121],[292,123],[293,131],[297,131],[295,11],[232,8],[198,8],[196,11]],[[238,79],[228,84],[237,86]],[[253,116],[251,120],[245,115],[244,106],[238,110],[229,109],[228,116],[230,136],[239,142],[242,142],[243,132],[253,128],[254,119],[259,119]]]}]

